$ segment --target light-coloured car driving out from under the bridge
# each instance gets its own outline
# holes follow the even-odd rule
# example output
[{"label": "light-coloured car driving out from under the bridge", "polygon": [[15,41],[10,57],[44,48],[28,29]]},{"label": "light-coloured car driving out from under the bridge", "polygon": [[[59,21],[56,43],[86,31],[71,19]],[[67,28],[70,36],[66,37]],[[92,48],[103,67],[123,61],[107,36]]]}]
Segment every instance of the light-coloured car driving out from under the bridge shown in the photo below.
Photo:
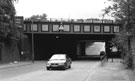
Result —
[{"label": "light-coloured car driving out from under the bridge", "polygon": [[71,63],[72,60],[67,54],[54,54],[47,61],[46,69],[61,68],[65,70],[71,68]]}]

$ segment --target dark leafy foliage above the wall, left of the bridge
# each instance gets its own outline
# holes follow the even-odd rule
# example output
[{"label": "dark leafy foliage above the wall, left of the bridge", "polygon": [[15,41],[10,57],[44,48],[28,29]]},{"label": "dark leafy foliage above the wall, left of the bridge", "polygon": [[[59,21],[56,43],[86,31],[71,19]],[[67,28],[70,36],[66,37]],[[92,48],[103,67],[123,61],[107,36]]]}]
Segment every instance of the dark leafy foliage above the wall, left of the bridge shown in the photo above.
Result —
[{"label": "dark leafy foliage above the wall, left of the bridge", "polygon": [[21,33],[15,26],[15,1],[18,0],[0,0],[0,41],[8,45]]}]

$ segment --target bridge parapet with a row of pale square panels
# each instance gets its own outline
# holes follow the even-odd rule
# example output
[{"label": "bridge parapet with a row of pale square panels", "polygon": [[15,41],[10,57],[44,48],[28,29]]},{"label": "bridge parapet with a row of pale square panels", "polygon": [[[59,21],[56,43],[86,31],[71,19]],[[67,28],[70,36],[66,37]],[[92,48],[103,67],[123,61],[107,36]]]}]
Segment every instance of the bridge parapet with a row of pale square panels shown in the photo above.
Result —
[{"label": "bridge parapet with a row of pale square panels", "polygon": [[24,33],[48,34],[116,34],[121,24],[112,20],[25,20]]}]

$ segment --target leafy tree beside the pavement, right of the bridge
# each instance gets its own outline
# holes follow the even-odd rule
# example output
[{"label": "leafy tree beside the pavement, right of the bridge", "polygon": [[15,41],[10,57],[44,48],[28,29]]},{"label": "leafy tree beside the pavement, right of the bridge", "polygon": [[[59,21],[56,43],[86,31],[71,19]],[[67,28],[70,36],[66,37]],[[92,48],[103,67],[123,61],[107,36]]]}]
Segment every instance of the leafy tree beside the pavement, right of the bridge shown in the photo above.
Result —
[{"label": "leafy tree beside the pavement, right of the bridge", "polygon": [[[128,59],[132,58],[131,54],[131,38],[135,38],[135,0],[109,0],[112,5],[104,9],[104,15],[111,14],[116,22],[122,24],[119,34],[112,40],[112,43],[123,49]],[[132,36],[132,37],[131,37]],[[129,64],[130,61],[127,61]],[[130,67],[130,65],[128,65]],[[131,66],[132,67],[132,66]]]}]

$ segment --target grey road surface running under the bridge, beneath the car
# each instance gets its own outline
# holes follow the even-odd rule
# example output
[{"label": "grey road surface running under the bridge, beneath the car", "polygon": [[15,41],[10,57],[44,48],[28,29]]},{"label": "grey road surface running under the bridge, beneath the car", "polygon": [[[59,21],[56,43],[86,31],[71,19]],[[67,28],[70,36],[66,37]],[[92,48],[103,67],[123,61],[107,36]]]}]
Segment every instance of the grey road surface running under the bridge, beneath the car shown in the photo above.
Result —
[{"label": "grey road surface running under the bridge, beneath the car", "polygon": [[73,61],[71,69],[47,71],[45,62],[35,62],[0,70],[0,81],[87,81],[98,65],[99,61]]}]

